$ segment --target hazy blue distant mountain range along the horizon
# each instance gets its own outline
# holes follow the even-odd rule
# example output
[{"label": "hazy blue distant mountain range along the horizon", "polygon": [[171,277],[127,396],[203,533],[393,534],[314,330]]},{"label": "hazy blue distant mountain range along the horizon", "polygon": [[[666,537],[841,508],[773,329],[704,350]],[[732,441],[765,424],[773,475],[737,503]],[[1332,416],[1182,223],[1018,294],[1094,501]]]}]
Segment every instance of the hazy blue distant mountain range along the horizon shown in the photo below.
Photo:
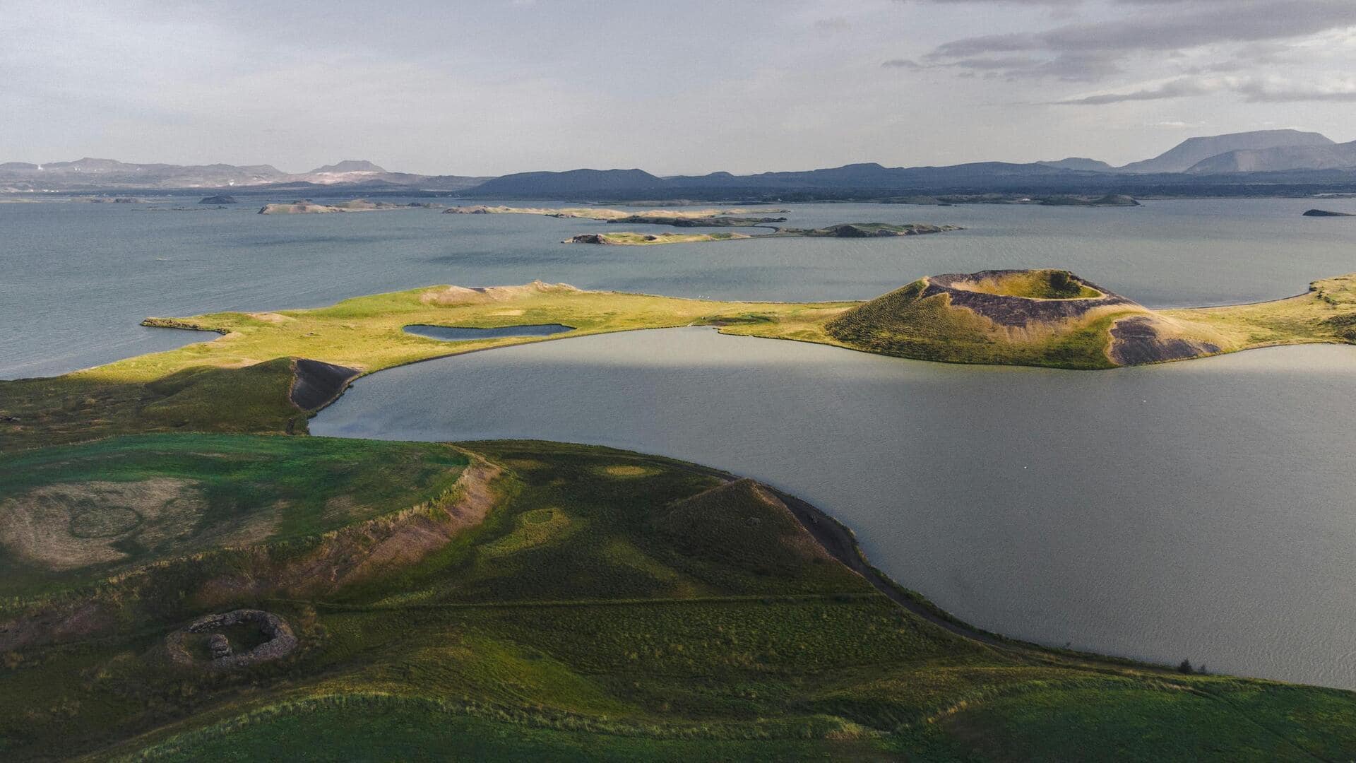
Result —
[{"label": "hazy blue distant mountain range along the horizon", "polygon": [[270,164],[126,164],[80,159],[0,164],[0,191],[222,190],[332,193],[443,191],[484,198],[907,198],[937,193],[1208,193],[1256,194],[1275,186],[1356,190],[1356,141],[1318,133],[1260,130],[1193,137],[1143,162],[1112,167],[1088,157],[976,162],[945,167],[846,164],[823,170],[659,176],[644,170],[515,172],[499,178],[391,172],[344,160],[289,174]]}]

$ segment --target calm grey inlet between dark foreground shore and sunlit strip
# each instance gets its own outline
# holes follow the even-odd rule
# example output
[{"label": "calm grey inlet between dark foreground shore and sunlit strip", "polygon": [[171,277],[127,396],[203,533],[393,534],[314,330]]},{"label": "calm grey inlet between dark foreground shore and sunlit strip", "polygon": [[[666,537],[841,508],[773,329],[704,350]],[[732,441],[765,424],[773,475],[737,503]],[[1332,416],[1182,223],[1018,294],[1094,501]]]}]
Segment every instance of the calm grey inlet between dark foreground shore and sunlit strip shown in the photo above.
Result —
[{"label": "calm grey inlet between dark foreground shore and sunlit strip", "polygon": [[1069,372],[671,329],[382,371],[312,432],[706,463],[980,627],[1356,688],[1352,399],[1345,346]]}]

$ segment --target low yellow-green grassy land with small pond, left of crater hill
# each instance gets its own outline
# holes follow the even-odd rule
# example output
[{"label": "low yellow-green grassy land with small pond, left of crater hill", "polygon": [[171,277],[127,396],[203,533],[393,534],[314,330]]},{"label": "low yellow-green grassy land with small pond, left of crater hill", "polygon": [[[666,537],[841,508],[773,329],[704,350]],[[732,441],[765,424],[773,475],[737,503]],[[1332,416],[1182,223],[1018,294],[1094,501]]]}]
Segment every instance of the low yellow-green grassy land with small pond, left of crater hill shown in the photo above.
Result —
[{"label": "low yellow-green grassy land with small pond, left of crater hill", "polygon": [[65,376],[0,382],[0,451],[127,432],[304,433],[312,411],[290,398],[297,358],[370,373],[418,360],[546,339],[447,342],[407,333],[410,324],[561,323],[575,330],[553,337],[576,337],[738,322],[750,315],[814,323],[845,307],[716,303],[534,282],[479,291],[428,286],[317,310],[148,319],[151,326],[199,329],[221,337]]}]

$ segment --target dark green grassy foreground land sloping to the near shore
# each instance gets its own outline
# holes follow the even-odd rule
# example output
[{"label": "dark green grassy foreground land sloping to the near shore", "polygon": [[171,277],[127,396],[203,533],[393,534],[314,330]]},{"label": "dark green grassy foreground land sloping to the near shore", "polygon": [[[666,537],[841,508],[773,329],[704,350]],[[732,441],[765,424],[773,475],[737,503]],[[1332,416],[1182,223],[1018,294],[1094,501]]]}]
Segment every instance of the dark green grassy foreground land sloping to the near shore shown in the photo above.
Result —
[{"label": "dark green grassy foreground land sloping to the near shore", "polygon": [[[4,652],[5,760],[1356,755],[1351,692],[970,638],[850,572],[797,521],[803,505],[693,464],[548,443],[195,434],[26,458],[34,477],[7,500],[49,490],[77,512],[77,496],[50,489],[96,474],[188,481],[239,509],[255,485],[251,505],[281,506],[293,531],[201,536],[207,547],[187,557],[156,546],[141,572],[7,599],[9,631],[15,614],[50,630],[60,607],[110,616]],[[339,459],[348,468],[332,468]],[[484,479],[468,482],[473,468]],[[381,485],[410,475],[423,477]],[[449,479],[452,493],[430,498]],[[340,510],[317,516],[321,497]],[[373,558],[385,563],[363,567]],[[317,559],[366,573],[323,587],[287,577]],[[46,612],[34,616],[33,599]],[[176,629],[236,607],[281,618],[296,650],[233,669],[165,660]],[[224,634],[250,646],[248,633]]]}]

